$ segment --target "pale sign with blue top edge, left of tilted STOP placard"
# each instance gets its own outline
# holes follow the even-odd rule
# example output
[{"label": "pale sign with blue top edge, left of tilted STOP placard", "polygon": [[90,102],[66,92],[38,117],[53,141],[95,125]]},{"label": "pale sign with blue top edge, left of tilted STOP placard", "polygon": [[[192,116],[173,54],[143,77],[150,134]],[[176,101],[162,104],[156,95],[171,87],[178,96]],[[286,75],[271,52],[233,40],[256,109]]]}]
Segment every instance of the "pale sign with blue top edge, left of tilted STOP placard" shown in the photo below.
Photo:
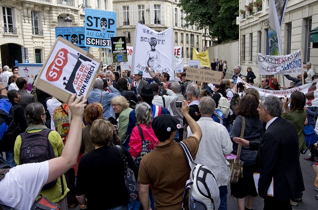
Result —
[{"label": "pale sign with blue top edge, left of tilted STOP placard", "polygon": [[41,71],[43,63],[15,63],[19,69],[19,76],[28,80],[28,91],[31,91],[35,76]]}]

